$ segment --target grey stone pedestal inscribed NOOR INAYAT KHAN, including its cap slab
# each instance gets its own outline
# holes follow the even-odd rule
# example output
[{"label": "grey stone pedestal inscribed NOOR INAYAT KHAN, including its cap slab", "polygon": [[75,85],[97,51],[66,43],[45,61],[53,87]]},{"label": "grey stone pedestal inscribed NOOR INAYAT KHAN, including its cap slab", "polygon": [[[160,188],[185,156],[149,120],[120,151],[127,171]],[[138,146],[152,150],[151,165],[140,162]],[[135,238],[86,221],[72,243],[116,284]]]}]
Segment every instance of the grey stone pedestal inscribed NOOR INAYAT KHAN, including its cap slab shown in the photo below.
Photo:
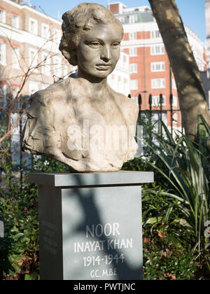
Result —
[{"label": "grey stone pedestal inscribed NOOR INAYAT KHAN, including its cap slab", "polygon": [[152,172],[29,174],[42,280],[143,279],[141,184]]}]

